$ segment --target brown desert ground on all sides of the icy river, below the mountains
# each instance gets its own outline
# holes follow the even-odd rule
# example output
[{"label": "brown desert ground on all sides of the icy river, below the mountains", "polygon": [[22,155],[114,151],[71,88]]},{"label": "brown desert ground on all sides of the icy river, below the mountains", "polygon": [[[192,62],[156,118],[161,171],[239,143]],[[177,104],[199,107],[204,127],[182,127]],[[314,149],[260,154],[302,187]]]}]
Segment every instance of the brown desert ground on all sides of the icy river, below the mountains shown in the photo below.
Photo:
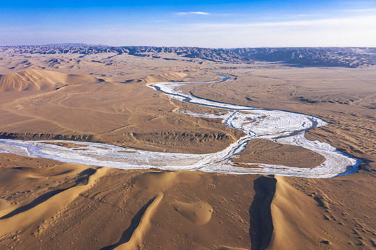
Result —
[{"label": "brown desert ground on all sides of the icy river, below the mountains", "polygon": [[[115,169],[0,153],[1,249],[372,249],[376,247],[376,68],[218,63],[113,53],[0,55],[0,137],[213,153],[244,136],[196,97],[319,117],[306,132],[363,162],[353,174],[298,178]],[[53,140],[59,140],[54,142]],[[69,142],[61,142],[69,140]],[[234,158],[312,168],[318,153],[253,140]],[[257,167],[257,166],[254,166]]]}]

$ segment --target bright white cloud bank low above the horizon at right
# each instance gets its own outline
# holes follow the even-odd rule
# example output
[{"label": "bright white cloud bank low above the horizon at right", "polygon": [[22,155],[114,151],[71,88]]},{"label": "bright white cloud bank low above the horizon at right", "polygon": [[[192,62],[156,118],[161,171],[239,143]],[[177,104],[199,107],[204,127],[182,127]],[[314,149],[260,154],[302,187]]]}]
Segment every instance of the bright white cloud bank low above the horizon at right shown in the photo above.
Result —
[{"label": "bright white cloud bank low above the horizon at right", "polygon": [[184,42],[203,47],[375,47],[376,15],[291,22],[190,24],[183,32],[175,32]]}]

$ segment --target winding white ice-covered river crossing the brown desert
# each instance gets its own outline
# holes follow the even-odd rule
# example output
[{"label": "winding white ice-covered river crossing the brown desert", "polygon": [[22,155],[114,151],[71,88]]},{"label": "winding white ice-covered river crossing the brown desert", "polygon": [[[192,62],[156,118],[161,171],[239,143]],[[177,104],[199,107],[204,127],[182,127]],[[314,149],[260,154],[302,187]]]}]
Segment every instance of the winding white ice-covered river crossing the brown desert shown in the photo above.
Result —
[{"label": "winding white ice-covered river crossing the brown desert", "polygon": [[[218,74],[223,81],[231,81],[229,76]],[[172,99],[195,103],[213,109],[226,110],[213,114],[197,114],[187,110],[180,111],[186,115],[222,119],[223,124],[240,129],[245,136],[229,145],[226,149],[215,153],[162,153],[124,149],[108,144],[95,142],[72,142],[73,148],[61,147],[46,142],[70,141],[23,141],[0,139],[0,153],[15,153],[21,156],[47,158],[63,163],[81,163],[94,166],[115,167],[120,169],[154,168],[162,170],[200,170],[224,174],[277,174],[282,176],[301,176],[308,178],[329,178],[343,174],[351,174],[358,169],[361,160],[352,158],[337,151],[325,142],[311,141],[304,138],[305,131],[325,126],[326,123],[317,117],[292,113],[283,110],[252,108],[229,103],[211,101],[183,93],[177,88],[186,84],[202,83],[154,83],[148,85],[156,91],[163,92]],[[254,139],[266,139],[280,144],[288,144],[309,149],[325,156],[325,162],[313,168],[268,165],[263,163],[245,163],[239,167],[231,162],[231,158],[245,149],[247,142]],[[82,150],[80,150],[82,149]]]}]

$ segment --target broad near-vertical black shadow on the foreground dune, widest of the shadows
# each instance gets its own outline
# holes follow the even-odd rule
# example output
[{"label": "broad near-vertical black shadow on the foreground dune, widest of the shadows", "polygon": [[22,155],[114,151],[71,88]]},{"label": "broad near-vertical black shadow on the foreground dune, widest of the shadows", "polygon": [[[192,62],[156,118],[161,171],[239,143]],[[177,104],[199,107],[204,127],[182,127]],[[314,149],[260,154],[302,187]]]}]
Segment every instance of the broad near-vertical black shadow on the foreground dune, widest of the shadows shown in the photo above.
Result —
[{"label": "broad near-vertical black shadow on the foreground dune, widest of the shadows", "polygon": [[250,206],[251,249],[266,249],[272,238],[273,222],[270,205],[275,195],[274,176],[261,176],[254,180],[254,199]]}]

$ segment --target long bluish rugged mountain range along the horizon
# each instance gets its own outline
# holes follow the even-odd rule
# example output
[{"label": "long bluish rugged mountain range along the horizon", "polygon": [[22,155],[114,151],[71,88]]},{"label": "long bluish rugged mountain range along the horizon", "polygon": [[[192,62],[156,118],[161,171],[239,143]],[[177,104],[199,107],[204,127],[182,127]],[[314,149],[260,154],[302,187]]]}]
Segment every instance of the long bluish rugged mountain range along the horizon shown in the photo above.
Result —
[{"label": "long bluish rugged mountain range along the horizon", "polygon": [[286,63],[301,67],[360,67],[376,65],[376,48],[357,47],[210,49],[199,47],[112,47],[88,44],[47,44],[0,47],[0,51],[6,50],[12,50],[15,54],[79,53],[88,55],[95,53],[117,53],[151,58],[161,58],[162,53],[172,53],[181,58],[198,58],[215,62],[254,63],[254,61],[265,61]]}]

